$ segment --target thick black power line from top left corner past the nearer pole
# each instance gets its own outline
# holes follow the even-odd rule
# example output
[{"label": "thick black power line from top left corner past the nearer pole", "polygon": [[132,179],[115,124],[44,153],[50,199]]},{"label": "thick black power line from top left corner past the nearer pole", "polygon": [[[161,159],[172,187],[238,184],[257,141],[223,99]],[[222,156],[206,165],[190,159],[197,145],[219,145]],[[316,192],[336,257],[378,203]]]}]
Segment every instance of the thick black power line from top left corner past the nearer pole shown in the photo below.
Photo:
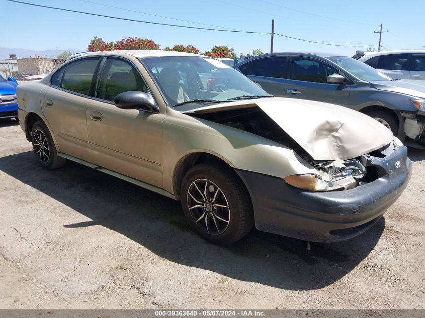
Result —
[{"label": "thick black power line from top left corner past the nearer pole", "polygon": [[[147,24],[154,24],[154,25],[161,25],[161,26],[178,27],[178,28],[186,28],[186,29],[196,29],[196,30],[233,32],[233,33],[267,34],[267,35],[270,35],[271,34],[270,32],[255,32],[255,31],[243,31],[243,30],[225,30],[225,29],[211,29],[211,28],[201,28],[201,27],[193,27],[193,26],[183,26],[183,25],[176,25],[176,24],[167,24],[167,23],[159,23],[159,22],[152,22],[152,21],[143,21],[143,20],[135,20],[135,19],[128,19],[128,18],[106,16],[106,15],[101,15],[101,14],[96,14],[96,13],[83,12],[83,11],[77,11],[77,10],[70,10],[70,9],[64,9],[64,8],[57,8],[57,7],[42,6],[42,5],[36,5],[36,4],[31,4],[31,3],[17,1],[17,0],[7,0],[7,1],[14,2],[14,3],[19,3],[19,4],[24,4],[24,5],[29,5],[29,6],[34,6],[34,7],[40,7],[40,8],[54,9],[54,10],[60,10],[60,11],[66,11],[66,12],[72,12],[72,13],[80,13],[80,14],[85,14],[85,15],[90,15],[90,16],[96,16],[96,17],[103,17],[103,18],[110,18],[110,19],[115,19],[115,20],[123,20],[123,21],[131,21],[131,22],[139,22],[139,23],[147,23]],[[275,33],[275,35],[280,36],[280,37],[284,37],[284,38],[289,38],[289,39],[294,39],[294,40],[299,40],[299,41],[304,41],[304,42],[310,42],[310,43],[317,43],[317,44],[322,44],[322,45],[344,46],[344,47],[358,47],[356,45],[337,45],[337,44],[330,44],[330,43],[324,43],[324,42],[313,41],[313,40],[306,40],[306,39],[291,37],[291,36],[284,35],[284,34],[279,34],[279,33]],[[368,45],[368,46],[370,46],[370,45]]]}]

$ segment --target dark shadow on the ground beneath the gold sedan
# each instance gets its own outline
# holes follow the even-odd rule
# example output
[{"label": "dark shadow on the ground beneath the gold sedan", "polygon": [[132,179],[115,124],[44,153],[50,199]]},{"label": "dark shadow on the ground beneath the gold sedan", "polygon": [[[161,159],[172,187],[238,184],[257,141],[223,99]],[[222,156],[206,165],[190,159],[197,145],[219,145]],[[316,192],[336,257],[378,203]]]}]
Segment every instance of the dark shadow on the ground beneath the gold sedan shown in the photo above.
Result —
[{"label": "dark shadow on the ground beneath the gold sedan", "polygon": [[24,152],[0,158],[0,170],[93,220],[63,224],[61,231],[101,225],[169,261],[290,290],[323,288],[341,279],[369,255],[385,228],[381,218],[354,239],[311,243],[309,250],[305,241],[257,230],[219,247],[192,232],[180,202],[88,167],[67,162],[47,171],[32,152]]}]

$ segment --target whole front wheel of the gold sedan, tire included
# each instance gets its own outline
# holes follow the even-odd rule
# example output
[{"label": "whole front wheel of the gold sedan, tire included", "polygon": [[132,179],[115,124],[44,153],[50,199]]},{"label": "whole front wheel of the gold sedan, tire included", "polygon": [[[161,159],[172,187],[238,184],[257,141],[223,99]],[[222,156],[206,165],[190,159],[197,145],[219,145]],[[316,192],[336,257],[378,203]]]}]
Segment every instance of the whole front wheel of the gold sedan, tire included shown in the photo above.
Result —
[{"label": "whole front wheel of the gold sedan, tire included", "polygon": [[225,165],[193,167],[183,179],[181,198],[189,224],[212,243],[235,243],[254,224],[249,193],[235,172]]}]

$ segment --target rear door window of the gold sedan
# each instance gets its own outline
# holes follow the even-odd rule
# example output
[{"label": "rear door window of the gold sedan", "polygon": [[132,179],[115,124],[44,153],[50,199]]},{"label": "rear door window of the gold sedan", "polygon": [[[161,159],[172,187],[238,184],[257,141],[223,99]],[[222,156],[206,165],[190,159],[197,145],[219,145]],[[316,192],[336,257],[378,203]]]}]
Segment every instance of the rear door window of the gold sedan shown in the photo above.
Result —
[{"label": "rear door window of the gold sedan", "polygon": [[60,87],[89,96],[98,63],[99,57],[85,58],[69,63],[66,66]]}]

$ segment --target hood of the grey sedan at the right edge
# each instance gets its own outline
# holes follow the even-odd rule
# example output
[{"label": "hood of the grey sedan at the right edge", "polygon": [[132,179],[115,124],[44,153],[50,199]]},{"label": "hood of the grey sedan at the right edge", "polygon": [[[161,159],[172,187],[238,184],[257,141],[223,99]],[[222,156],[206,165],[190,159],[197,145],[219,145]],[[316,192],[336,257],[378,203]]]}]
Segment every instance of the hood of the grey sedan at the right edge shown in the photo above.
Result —
[{"label": "hood of the grey sedan at the right edge", "polygon": [[425,81],[422,80],[384,80],[384,81],[373,81],[371,82],[376,89],[391,91],[395,93],[406,94],[410,96],[416,96],[425,98]]}]

